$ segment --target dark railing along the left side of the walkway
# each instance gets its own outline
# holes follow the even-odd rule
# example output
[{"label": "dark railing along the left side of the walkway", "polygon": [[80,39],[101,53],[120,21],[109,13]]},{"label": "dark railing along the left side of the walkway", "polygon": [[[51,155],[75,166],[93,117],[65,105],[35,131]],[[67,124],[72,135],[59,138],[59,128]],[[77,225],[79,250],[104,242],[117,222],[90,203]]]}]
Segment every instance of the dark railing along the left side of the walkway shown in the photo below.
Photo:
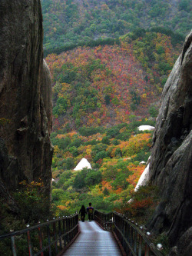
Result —
[{"label": "dark railing along the left side of the walkway", "polygon": [[60,255],[79,233],[78,214],[38,223],[21,231],[12,231],[0,236],[1,246],[5,244],[5,254],[13,256],[54,256]]}]

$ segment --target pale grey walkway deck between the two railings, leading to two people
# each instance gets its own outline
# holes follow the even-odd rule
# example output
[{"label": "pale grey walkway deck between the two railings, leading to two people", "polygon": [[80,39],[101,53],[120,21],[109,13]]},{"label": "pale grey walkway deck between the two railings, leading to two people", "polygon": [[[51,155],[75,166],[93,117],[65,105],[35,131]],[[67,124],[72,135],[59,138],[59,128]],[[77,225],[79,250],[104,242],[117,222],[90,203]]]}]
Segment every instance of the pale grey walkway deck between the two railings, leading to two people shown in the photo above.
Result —
[{"label": "pale grey walkway deck between the two railings, leading to two people", "polygon": [[79,221],[79,226],[81,233],[62,256],[122,255],[111,232],[104,231],[94,221]]}]

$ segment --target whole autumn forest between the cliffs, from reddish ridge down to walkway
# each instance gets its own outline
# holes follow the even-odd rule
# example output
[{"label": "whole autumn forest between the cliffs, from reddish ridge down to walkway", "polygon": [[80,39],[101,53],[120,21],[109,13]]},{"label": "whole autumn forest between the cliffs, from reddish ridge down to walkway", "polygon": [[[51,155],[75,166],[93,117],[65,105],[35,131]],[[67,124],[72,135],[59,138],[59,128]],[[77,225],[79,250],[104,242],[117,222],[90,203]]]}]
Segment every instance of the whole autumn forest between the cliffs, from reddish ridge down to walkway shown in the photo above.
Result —
[{"label": "whole autumn forest between the cliffs, from reddish ridge down to walkway", "polygon": [[[155,188],[139,191],[133,204],[127,201],[151,148],[152,132],[137,127],[155,125],[161,91],[180,52],[171,40],[158,32],[133,32],[119,45],[84,46],[46,58],[53,81],[52,199],[58,214],[92,201],[102,211],[149,218]],[[92,170],[73,171],[82,158]]]}]

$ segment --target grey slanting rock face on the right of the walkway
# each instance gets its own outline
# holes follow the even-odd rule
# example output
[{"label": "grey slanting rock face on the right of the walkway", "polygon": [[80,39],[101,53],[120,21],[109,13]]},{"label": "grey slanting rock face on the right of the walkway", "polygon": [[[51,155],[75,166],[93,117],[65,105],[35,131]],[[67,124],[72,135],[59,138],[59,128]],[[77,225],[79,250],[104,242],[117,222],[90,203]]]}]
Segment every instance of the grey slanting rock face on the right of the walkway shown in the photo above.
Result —
[{"label": "grey slanting rock face on the right of the walkway", "polygon": [[162,200],[149,228],[157,233],[166,231],[174,245],[192,225],[192,32],[170,73],[161,101],[150,179],[160,188]]}]

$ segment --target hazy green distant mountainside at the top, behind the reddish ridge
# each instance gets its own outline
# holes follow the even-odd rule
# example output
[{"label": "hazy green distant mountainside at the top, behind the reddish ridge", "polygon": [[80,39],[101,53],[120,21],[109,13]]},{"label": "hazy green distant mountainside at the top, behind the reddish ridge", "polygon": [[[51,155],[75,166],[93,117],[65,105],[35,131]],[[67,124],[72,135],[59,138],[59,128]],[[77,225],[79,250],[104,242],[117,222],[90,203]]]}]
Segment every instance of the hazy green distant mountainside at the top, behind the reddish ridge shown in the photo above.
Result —
[{"label": "hazy green distant mountainside at the top, behind the reddish ridge", "polygon": [[41,0],[45,55],[76,45],[113,44],[137,28],[177,33],[174,41],[190,32],[190,0]]}]

